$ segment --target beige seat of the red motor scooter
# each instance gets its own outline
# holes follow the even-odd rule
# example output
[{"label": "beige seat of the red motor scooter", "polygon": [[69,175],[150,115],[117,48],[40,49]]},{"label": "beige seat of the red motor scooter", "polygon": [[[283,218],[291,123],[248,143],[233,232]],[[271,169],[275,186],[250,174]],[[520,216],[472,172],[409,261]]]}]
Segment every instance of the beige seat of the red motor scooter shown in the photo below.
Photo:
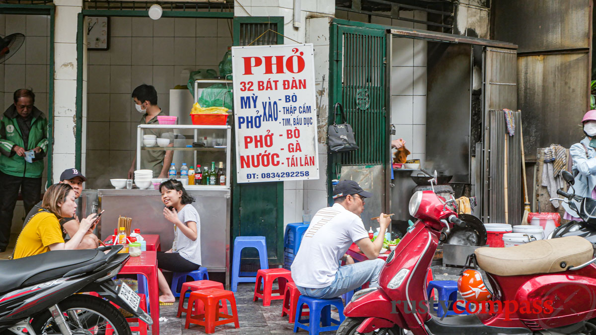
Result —
[{"label": "beige seat of the red motor scooter", "polygon": [[592,259],[592,243],[568,236],[538,240],[507,248],[482,247],[474,251],[480,268],[489,274],[532,275],[565,271]]}]

